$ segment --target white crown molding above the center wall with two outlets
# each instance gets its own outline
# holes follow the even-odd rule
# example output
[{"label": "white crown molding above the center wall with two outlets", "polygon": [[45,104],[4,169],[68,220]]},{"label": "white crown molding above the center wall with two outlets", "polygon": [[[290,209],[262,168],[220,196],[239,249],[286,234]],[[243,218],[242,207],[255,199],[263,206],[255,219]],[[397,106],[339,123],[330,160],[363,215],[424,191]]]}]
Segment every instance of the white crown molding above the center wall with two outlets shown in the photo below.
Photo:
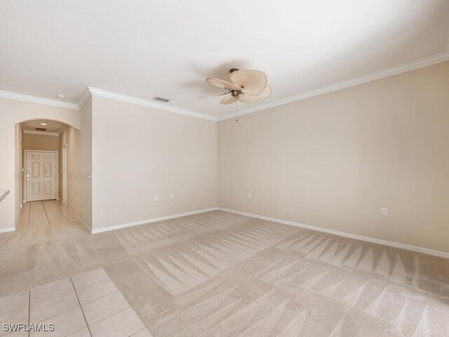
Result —
[{"label": "white crown molding above the center wall with two outlets", "polygon": [[153,107],[154,109],[165,110],[169,112],[175,112],[177,114],[185,114],[190,117],[197,117],[201,119],[207,119],[208,121],[217,121],[217,117],[210,116],[209,114],[201,114],[192,110],[182,109],[180,107],[172,107],[170,105],[164,105],[161,103],[152,102],[149,100],[142,100],[141,98],[135,98],[127,95],[121,95],[120,93],[112,93],[111,91],[105,91],[98,88],[88,87],[92,95],[110,98],[112,100],[121,100],[122,102],[133,103],[142,105],[144,107]]}]

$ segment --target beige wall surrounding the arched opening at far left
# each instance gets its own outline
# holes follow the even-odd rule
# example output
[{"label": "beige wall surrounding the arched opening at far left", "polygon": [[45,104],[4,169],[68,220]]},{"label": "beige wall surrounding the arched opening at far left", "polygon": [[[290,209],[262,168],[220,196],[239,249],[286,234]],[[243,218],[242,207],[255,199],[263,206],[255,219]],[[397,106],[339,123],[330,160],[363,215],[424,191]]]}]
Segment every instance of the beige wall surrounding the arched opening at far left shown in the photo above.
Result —
[{"label": "beige wall surrounding the arched opening at far left", "polygon": [[[0,190],[10,194],[0,202],[0,231],[15,227],[20,210],[20,175],[18,174],[17,149],[18,124],[31,119],[62,121],[79,127],[79,111],[37,103],[0,98]],[[16,192],[17,190],[17,192]]]}]

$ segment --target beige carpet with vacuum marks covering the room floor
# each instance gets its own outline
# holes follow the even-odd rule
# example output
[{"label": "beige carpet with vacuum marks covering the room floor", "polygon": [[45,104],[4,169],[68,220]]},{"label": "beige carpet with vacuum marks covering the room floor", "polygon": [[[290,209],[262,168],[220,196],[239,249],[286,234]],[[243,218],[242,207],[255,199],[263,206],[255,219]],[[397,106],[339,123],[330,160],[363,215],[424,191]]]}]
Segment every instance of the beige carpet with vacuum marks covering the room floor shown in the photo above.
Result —
[{"label": "beige carpet with vacuum marks covering the room floor", "polygon": [[103,267],[153,336],[449,336],[449,260],[222,211],[0,247],[0,296]]}]

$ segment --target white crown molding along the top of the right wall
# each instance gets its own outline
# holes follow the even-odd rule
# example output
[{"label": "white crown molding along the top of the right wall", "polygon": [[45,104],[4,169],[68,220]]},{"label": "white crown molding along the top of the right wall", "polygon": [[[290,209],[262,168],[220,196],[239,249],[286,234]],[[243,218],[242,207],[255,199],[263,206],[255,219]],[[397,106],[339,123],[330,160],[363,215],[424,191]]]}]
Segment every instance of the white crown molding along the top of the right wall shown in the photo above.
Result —
[{"label": "white crown molding along the top of the right wall", "polygon": [[[419,60],[414,60],[411,62],[403,63],[402,65],[396,65],[394,67],[389,67],[384,70],[379,70],[377,72],[372,72],[370,74],[363,75],[361,77],[354,77],[352,79],[347,79],[344,81],[337,82],[335,84],[330,84],[329,86],[322,86],[321,88],[316,88],[310,91],[304,91],[303,93],[298,93],[296,95],[288,96],[286,98],[281,98],[280,100],[274,100],[269,103],[262,105],[257,105],[256,107],[248,108],[239,111],[239,116],[243,114],[250,114],[260,110],[266,110],[270,107],[277,107],[279,105],[285,105],[288,103],[296,102],[297,100],[305,100],[306,98],[311,98],[318,95],[323,95],[323,93],[330,93],[332,91],[337,91],[344,88],[349,88],[351,86],[356,86],[358,84],[367,83],[370,81],[375,81],[377,79],[383,79],[384,77],[390,77],[396,74],[401,74],[403,72],[409,72],[411,70],[416,70],[418,68],[427,67],[429,65],[435,65],[436,63],[441,63],[449,60],[449,46],[448,51],[444,53],[439,53],[436,55],[431,55],[427,58],[420,58]],[[235,118],[236,114],[226,114],[225,116],[218,117],[217,121],[224,121],[225,119]]]}]

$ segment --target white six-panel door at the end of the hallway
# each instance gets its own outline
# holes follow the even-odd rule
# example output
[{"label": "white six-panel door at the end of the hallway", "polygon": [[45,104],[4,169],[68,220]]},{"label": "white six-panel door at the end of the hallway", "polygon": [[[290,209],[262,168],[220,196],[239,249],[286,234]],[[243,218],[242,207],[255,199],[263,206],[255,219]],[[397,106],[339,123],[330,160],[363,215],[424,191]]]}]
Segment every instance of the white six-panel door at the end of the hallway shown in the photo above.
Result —
[{"label": "white six-panel door at the end of the hallway", "polygon": [[26,152],[27,201],[56,199],[56,153]]}]

